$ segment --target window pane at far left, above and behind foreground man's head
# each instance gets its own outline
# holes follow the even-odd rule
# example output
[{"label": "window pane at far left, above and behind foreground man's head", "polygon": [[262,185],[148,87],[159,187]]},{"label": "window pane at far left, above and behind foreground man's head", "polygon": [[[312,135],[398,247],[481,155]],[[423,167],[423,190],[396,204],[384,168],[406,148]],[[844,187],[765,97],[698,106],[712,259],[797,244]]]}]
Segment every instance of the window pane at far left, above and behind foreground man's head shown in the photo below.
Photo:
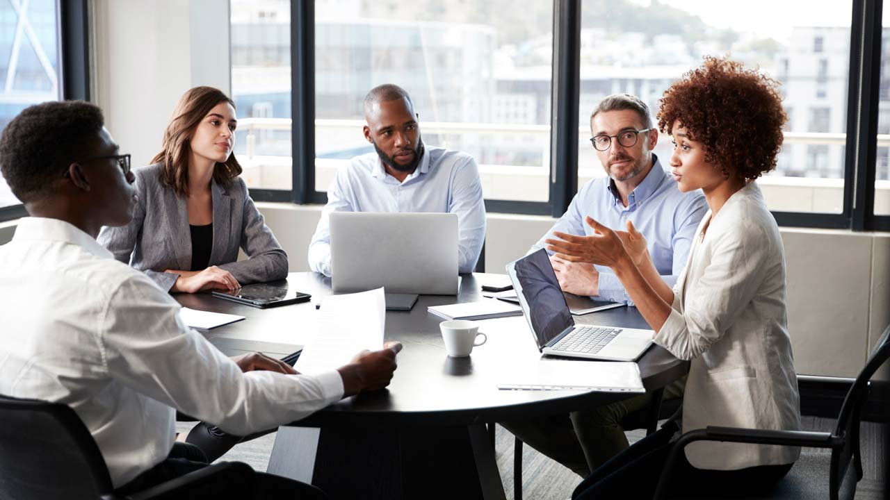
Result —
[{"label": "window pane at far left, above and behind foreground man's head", "polygon": [[[31,104],[61,99],[56,2],[19,4],[0,2],[0,132]],[[0,175],[0,207],[19,203]]]}]

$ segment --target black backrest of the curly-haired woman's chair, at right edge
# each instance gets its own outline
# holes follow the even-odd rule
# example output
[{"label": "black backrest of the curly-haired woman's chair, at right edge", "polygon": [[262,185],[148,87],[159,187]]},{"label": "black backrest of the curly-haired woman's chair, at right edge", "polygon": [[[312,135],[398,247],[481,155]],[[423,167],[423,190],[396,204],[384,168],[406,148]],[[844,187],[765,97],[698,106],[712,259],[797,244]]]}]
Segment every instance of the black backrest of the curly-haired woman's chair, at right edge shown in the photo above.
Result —
[{"label": "black backrest of the curly-haired woman's chair, at right edge", "polygon": [[887,359],[890,359],[890,327],[884,330],[884,334],[878,339],[878,344],[862,372],[856,377],[850,391],[846,393],[844,404],[840,408],[840,414],[837,415],[837,428],[834,435],[845,439],[844,447],[837,449],[831,454],[831,475],[829,486],[831,491],[836,492],[844,480],[847,468],[850,466],[851,458],[855,459],[857,474],[862,479],[862,462],[859,456],[859,426],[862,406],[869,396],[871,377],[878,372],[878,369],[884,365]]}]

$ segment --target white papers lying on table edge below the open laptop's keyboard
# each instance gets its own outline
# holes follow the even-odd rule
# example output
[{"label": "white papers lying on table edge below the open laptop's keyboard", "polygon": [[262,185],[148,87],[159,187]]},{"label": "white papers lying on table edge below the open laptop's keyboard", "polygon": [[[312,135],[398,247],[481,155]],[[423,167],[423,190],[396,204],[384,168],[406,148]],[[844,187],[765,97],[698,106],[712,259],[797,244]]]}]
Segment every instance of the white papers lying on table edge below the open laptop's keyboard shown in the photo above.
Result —
[{"label": "white papers lying on table edge below the open laptop's keyboard", "polygon": [[636,363],[541,359],[507,371],[498,389],[519,391],[645,392]]}]

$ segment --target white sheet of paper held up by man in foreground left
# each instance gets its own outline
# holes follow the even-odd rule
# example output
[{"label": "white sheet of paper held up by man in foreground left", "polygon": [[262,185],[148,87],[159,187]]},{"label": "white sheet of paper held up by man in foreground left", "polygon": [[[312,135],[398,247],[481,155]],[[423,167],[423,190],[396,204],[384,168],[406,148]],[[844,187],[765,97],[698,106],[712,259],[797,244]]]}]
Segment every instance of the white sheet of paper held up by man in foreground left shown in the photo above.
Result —
[{"label": "white sheet of paper held up by man in foreground left", "polygon": [[321,301],[318,327],[303,347],[296,370],[318,374],[344,366],[360,351],[383,348],[385,319],[383,288],[328,295]]}]

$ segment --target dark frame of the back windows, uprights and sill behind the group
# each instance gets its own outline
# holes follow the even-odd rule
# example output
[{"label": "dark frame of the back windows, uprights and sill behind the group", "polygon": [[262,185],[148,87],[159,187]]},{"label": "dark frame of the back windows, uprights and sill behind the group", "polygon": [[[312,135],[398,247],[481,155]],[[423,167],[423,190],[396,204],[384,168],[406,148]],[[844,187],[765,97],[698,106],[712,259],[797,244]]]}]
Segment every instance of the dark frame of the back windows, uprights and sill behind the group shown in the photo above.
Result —
[{"label": "dark frame of the back windows, uprights and sill behind the group", "polygon": [[[292,189],[251,190],[258,201],[296,204],[328,201],[327,193],[315,190],[314,4],[313,0],[291,2]],[[780,226],[890,230],[890,215],[874,214],[883,2],[853,0],[852,9],[843,211],[840,214],[773,211]],[[546,202],[486,199],[489,212],[559,217],[578,190],[578,138],[574,131],[578,128],[580,10],[581,0],[554,0],[549,199]]]}]

